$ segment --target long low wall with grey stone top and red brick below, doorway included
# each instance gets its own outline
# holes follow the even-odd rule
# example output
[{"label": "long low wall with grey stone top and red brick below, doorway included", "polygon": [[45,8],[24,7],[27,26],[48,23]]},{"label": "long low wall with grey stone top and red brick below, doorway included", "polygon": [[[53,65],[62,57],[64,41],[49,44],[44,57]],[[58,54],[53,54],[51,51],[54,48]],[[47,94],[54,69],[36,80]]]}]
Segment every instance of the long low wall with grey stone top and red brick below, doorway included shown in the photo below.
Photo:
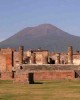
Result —
[{"label": "long low wall with grey stone top and red brick below, doorway included", "polygon": [[23,65],[16,70],[14,82],[29,83],[36,80],[74,79],[78,65]]}]

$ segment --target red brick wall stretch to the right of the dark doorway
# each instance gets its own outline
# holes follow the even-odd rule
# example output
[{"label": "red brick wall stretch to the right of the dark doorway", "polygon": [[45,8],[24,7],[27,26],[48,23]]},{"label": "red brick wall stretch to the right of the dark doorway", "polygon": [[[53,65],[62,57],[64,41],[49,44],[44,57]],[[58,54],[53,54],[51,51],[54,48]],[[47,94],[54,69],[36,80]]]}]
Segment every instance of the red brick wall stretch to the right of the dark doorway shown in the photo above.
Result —
[{"label": "red brick wall stretch to the right of the dark doorway", "polygon": [[74,71],[57,70],[57,71],[42,71],[34,72],[34,80],[61,80],[74,79]]}]

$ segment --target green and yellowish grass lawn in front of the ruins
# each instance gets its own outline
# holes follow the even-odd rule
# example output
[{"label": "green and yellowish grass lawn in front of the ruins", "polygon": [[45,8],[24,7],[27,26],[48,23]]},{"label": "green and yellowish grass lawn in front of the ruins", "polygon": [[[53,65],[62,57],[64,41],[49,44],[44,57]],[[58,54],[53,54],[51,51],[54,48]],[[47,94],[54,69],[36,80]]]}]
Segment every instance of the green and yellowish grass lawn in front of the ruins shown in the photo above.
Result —
[{"label": "green and yellowish grass lawn in front of the ruins", "polygon": [[20,84],[0,81],[0,100],[80,100],[80,80]]}]

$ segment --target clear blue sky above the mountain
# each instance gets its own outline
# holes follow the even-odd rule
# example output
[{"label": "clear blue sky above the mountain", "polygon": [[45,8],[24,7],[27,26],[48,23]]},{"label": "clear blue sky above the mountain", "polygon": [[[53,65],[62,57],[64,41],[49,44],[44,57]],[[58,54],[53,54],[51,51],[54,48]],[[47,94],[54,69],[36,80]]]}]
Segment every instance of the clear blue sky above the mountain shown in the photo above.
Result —
[{"label": "clear blue sky above the mountain", "polygon": [[80,0],[0,0],[0,41],[45,23],[80,36]]}]

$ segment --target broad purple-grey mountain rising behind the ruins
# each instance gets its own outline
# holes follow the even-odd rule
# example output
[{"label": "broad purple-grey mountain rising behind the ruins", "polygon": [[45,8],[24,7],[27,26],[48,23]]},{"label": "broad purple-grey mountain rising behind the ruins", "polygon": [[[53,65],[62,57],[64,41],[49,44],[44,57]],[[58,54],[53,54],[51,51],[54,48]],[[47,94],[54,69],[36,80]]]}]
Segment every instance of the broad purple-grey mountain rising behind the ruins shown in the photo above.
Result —
[{"label": "broad purple-grey mountain rising behind the ruins", "polygon": [[51,24],[41,24],[35,27],[27,27],[0,42],[0,48],[18,48],[23,45],[25,49],[48,49],[50,51],[63,52],[68,46],[74,50],[80,50],[80,37],[73,36]]}]

